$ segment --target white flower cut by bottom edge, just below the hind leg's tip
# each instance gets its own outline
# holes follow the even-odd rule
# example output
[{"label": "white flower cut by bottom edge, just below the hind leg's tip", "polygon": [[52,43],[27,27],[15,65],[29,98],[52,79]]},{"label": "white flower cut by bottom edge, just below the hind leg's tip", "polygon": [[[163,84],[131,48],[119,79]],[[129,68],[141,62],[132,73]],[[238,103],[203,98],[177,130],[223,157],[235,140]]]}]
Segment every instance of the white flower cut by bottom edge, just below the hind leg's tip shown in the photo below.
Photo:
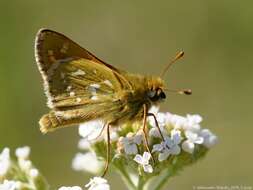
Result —
[{"label": "white flower cut by bottom edge, just below the hind leg's tip", "polygon": [[89,188],[88,190],[110,190],[107,180],[102,177],[90,179],[90,182],[85,187]]}]

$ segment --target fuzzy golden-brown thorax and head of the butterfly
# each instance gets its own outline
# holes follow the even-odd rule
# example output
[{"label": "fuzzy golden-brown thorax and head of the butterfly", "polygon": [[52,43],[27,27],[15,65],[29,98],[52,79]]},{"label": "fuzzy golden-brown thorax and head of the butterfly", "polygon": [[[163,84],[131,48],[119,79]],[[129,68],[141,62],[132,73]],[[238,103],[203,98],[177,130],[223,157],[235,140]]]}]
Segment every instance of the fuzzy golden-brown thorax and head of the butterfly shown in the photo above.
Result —
[{"label": "fuzzy golden-brown thorax and head of the butterfly", "polygon": [[114,119],[112,123],[116,125],[141,121],[144,105],[148,110],[152,105],[157,105],[166,97],[163,92],[164,82],[159,77],[135,74],[125,74],[124,76],[132,88],[118,92],[117,97],[122,109],[111,117]]}]

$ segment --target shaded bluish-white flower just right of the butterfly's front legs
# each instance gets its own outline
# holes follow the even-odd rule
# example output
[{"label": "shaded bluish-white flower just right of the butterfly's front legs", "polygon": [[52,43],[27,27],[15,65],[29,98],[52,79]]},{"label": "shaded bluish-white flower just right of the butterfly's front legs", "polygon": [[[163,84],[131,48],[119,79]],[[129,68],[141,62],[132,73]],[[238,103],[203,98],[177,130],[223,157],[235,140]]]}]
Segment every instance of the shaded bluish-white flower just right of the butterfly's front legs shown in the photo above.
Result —
[{"label": "shaded bluish-white flower just right of the butterfly's front legs", "polygon": [[159,152],[158,160],[162,162],[166,160],[169,155],[180,154],[181,148],[179,144],[181,140],[181,131],[173,129],[171,131],[171,137],[166,137],[165,141],[162,141],[161,144],[155,144],[152,152]]}]

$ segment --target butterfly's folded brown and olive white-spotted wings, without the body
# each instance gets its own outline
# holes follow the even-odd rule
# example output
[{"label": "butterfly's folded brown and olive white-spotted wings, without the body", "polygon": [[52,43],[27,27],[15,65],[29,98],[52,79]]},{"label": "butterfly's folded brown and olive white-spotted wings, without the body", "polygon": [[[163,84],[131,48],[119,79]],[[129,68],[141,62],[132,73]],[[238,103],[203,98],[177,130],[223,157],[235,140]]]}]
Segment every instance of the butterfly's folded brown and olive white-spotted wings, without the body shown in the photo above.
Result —
[{"label": "butterfly's folded brown and olive white-spotted wings, without the body", "polygon": [[101,103],[120,89],[131,89],[121,71],[60,33],[40,30],[35,57],[50,108],[64,110]]}]

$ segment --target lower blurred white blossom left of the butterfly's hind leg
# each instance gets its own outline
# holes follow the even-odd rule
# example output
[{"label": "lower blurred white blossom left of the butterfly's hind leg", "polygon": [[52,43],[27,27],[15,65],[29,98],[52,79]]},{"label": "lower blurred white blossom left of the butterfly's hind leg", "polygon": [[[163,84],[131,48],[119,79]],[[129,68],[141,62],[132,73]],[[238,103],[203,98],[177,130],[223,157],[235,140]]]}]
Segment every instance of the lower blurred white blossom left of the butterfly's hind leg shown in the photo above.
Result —
[{"label": "lower blurred white blossom left of the butterfly's hind leg", "polygon": [[87,171],[90,173],[98,173],[104,166],[104,162],[98,161],[92,152],[85,154],[77,153],[72,161],[72,168],[76,171]]}]

